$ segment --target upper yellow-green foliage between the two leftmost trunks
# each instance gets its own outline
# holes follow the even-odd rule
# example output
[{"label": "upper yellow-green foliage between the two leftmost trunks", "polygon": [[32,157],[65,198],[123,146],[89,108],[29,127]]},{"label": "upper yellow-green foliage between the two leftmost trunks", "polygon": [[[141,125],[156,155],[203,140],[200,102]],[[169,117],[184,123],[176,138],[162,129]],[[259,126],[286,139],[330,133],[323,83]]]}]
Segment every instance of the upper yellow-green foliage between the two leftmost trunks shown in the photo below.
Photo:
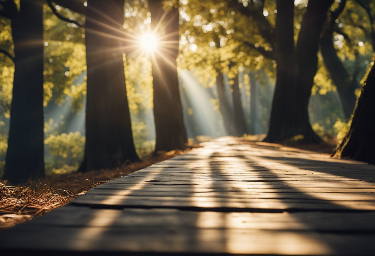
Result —
[{"label": "upper yellow-green foliage between the two leftmost trunks", "polygon": [[[63,16],[84,22],[84,17],[65,8]],[[44,106],[52,99],[62,104],[72,99],[72,109],[81,110],[86,95],[86,78],[76,80],[86,71],[84,29],[58,19],[48,6],[44,7]],[[74,84],[76,83],[76,84]]]}]

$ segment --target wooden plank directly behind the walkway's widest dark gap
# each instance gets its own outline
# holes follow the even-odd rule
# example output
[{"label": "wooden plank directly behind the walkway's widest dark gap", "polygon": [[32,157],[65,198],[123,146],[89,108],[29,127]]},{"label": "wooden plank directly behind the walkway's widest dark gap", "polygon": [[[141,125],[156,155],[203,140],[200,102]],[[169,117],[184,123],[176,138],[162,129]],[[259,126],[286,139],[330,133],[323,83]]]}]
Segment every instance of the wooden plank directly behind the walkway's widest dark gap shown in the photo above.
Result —
[{"label": "wooden plank directly behind the walkway's widest dark gap", "polygon": [[[107,207],[246,208],[256,210],[375,210],[375,201],[84,195],[71,204]],[[235,211],[235,209],[233,209]]]}]

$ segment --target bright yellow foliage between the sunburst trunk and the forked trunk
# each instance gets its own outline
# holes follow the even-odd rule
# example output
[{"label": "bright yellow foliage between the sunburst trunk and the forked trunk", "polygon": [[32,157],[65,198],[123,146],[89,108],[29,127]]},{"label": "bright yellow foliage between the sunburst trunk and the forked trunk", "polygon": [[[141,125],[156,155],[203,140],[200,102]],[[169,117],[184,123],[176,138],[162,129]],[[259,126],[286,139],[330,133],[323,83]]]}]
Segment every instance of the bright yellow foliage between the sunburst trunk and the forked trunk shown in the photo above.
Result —
[{"label": "bright yellow foliage between the sunburst trunk and the forked trunk", "polygon": [[[246,68],[262,68],[268,76],[274,77],[276,62],[264,58],[243,42],[251,42],[267,51],[272,51],[271,46],[260,36],[257,26],[249,26],[254,23],[252,18],[229,9],[227,5],[226,1],[213,0],[181,2],[178,67],[192,71],[204,87],[214,86],[217,72],[226,74],[229,84]],[[275,24],[274,10],[275,3],[267,1],[264,13],[270,24]]]}]

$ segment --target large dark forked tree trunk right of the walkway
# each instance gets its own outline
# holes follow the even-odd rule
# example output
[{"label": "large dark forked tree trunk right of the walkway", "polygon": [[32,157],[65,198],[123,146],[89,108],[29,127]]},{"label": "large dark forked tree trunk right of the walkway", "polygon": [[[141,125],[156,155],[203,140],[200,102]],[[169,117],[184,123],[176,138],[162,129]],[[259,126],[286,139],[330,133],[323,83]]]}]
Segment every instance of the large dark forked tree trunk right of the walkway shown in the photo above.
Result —
[{"label": "large dark forked tree trunk right of the walkway", "polygon": [[265,141],[276,142],[294,138],[304,143],[321,142],[311,128],[308,103],[317,72],[320,34],[332,3],[333,0],[309,1],[294,51],[294,1],[277,1],[277,80],[270,129]]}]

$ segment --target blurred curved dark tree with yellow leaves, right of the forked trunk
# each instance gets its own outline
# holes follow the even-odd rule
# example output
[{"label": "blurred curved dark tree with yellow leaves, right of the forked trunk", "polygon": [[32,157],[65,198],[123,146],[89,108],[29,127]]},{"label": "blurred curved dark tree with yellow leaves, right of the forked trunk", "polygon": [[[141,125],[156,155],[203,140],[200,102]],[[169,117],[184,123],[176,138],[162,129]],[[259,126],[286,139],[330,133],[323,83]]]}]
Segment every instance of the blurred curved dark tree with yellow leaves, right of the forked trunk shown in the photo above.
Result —
[{"label": "blurred curved dark tree with yellow leaves, right of the forked trunk", "polygon": [[[365,6],[367,11],[364,11],[362,6]],[[361,63],[371,48],[366,41],[372,42],[373,40],[371,35],[374,31],[374,24],[369,7],[370,2],[363,5],[360,0],[342,0],[335,10],[329,12],[329,18],[320,40],[324,64],[336,85],[347,120],[350,119],[356,104],[355,90],[360,88],[358,77],[362,75],[360,74],[363,70]],[[358,24],[359,15],[363,17],[360,25]],[[345,22],[345,26],[342,22]],[[371,32],[368,32],[368,27]],[[365,43],[360,41],[360,38],[363,38]],[[367,49],[363,51],[362,48]],[[345,63],[350,59],[354,60],[354,67]]]}]

